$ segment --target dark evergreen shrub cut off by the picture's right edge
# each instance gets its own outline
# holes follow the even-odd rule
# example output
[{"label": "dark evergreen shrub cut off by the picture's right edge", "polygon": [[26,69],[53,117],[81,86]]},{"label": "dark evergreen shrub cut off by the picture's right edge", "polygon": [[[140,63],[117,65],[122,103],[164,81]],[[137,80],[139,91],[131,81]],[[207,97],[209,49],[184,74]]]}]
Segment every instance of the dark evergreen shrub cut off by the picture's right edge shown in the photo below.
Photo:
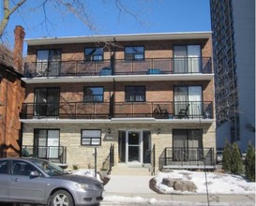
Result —
[{"label": "dark evergreen shrub cut off by the picture's right edge", "polygon": [[245,166],[247,179],[255,182],[255,148],[250,143],[248,144]]}]

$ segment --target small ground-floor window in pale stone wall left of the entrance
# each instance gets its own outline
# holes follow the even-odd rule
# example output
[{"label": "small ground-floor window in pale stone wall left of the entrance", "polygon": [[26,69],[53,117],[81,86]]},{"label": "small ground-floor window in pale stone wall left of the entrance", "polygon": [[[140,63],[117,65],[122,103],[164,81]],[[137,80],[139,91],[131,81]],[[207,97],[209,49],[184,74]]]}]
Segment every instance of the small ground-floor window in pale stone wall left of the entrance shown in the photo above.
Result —
[{"label": "small ground-floor window in pale stone wall left of the entrance", "polygon": [[99,146],[101,145],[101,130],[87,130],[81,132],[81,145]]}]

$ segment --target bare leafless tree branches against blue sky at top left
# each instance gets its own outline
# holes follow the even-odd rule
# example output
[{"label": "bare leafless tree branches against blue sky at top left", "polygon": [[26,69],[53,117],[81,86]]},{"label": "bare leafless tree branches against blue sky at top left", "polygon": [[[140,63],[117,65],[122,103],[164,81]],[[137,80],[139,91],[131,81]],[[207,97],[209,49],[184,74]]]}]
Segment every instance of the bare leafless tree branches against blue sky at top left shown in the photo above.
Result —
[{"label": "bare leafless tree branches against blue sky at top left", "polygon": [[[151,0],[141,0],[141,3],[147,3]],[[102,4],[107,4],[109,1],[101,0]],[[73,15],[79,21],[83,22],[91,31],[97,32],[97,27],[92,21],[90,11],[88,9],[88,2],[83,0],[37,0],[33,1],[33,6],[29,5],[32,1],[28,0],[4,0],[4,16],[0,23],[0,38],[4,36],[5,30],[8,26],[8,22],[14,13],[19,13],[25,22],[24,12],[28,11],[35,15],[35,18],[39,15],[43,17],[38,25],[44,25],[46,31],[48,31],[48,26],[52,25],[51,18],[49,18],[48,8],[54,7],[56,12],[59,12],[62,16],[67,16],[68,14]],[[87,5],[86,5],[87,4]],[[144,12],[143,7],[130,7],[129,1],[126,0],[112,0],[112,4],[117,9],[119,16],[129,15],[134,18],[137,22],[143,24],[139,16]],[[28,7],[23,8],[25,5]],[[145,4],[141,4],[145,5]],[[23,8],[23,9],[22,9]],[[25,10],[26,9],[26,10]]]}]

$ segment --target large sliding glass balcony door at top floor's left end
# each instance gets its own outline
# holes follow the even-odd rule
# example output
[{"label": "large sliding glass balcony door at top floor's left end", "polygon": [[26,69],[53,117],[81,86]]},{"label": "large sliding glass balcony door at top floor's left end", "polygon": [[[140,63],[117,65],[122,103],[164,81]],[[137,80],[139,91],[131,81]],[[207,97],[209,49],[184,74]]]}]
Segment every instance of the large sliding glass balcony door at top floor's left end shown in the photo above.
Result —
[{"label": "large sliding glass balcony door at top floor's left end", "polygon": [[39,50],[37,72],[40,76],[58,76],[60,74],[60,50]]}]

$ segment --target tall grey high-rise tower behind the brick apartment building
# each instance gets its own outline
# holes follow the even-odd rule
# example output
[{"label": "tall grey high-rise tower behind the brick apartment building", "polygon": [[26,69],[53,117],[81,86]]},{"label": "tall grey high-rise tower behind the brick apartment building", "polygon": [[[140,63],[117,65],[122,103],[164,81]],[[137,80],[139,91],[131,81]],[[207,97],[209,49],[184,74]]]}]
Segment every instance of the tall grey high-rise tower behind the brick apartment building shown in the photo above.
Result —
[{"label": "tall grey high-rise tower behind the brick apartment building", "polygon": [[255,0],[210,0],[217,148],[255,144]]}]

